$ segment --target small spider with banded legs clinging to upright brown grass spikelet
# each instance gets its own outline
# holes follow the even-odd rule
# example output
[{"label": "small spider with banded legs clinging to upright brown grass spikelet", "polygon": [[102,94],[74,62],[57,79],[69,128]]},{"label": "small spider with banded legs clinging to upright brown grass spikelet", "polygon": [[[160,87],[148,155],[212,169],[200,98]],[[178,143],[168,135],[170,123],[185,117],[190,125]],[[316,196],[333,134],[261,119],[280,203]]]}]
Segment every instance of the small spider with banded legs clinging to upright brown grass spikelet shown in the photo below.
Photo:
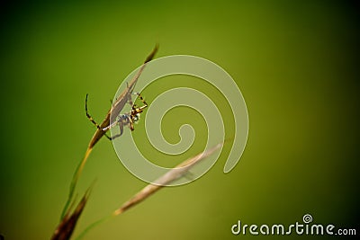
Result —
[{"label": "small spider with banded legs clinging to upright brown grass spikelet", "polygon": [[132,93],[132,94],[136,94],[139,96],[141,102],[144,104],[143,106],[137,106],[136,104],[133,104],[131,99],[128,101],[130,103],[130,105],[132,105],[131,111],[128,113],[124,113],[124,114],[120,114],[119,116],[117,116],[116,120],[114,122],[112,122],[112,124],[110,124],[109,126],[105,127],[105,128],[101,128],[99,126],[99,124],[97,124],[95,122],[95,120],[90,116],[90,114],[87,111],[87,94],[86,94],[86,99],[85,99],[85,112],[86,112],[86,117],[96,126],[97,129],[101,129],[102,131],[107,131],[108,129],[112,129],[112,127],[119,125],[120,128],[120,134],[114,135],[112,137],[109,137],[105,134],[106,138],[109,138],[110,140],[113,140],[114,138],[118,138],[122,135],[123,133],[123,126],[129,126],[130,130],[133,131],[134,130],[134,123],[137,122],[139,120],[140,117],[140,113],[142,111],[144,111],[145,108],[148,107],[148,103],[145,102],[145,100],[142,98],[142,96],[140,95],[140,93]]}]

